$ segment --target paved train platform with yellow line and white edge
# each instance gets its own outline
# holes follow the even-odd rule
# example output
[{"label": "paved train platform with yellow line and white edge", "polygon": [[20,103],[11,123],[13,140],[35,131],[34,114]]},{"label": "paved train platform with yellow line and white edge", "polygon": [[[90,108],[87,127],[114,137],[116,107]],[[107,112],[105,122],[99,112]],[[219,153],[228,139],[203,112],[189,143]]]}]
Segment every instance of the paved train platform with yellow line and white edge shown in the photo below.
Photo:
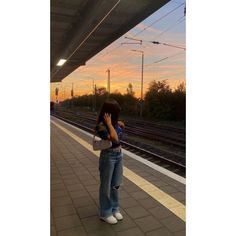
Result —
[{"label": "paved train platform with yellow line and white edge", "polygon": [[98,216],[91,134],[51,117],[51,236],[184,236],[185,179],[124,150],[122,221]]}]

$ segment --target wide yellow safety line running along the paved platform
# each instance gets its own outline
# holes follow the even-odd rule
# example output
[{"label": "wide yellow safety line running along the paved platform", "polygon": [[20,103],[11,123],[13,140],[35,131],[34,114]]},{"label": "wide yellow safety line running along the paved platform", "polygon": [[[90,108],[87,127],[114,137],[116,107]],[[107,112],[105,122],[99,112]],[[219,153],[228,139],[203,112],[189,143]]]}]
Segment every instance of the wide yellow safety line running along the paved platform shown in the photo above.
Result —
[{"label": "wide yellow safety line running along the paved platform", "polygon": [[[84,146],[86,149],[88,149],[90,152],[92,152],[94,155],[99,157],[99,151],[94,151],[91,144],[88,144],[83,139],[79,138],[77,135],[73,134],[68,129],[64,128],[63,126],[57,124],[55,121],[51,122],[57,126],[59,129],[61,129],[63,132],[65,132],[67,135],[69,135],[71,138],[73,138],[75,141],[77,141],[79,144]],[[91,141],[92,142],[92,141]],[[135,174],[132,170],[128,169],[127,167],[123,167],[123,175],[129,179],[131,182],[136,184],[138,187],[140,187],[144,192],[149,194],[152,198],[160,202],[163,206],[168,208],[171,212],[173,212],[176,216],[178,216],[183,221],[186,221],[185,216],[185,205],[183,205],[181,202],[177,201],[170,195],[166,194],[162,190],[160,190],[158,187],[150,183],[149,181],[145,180],[141,176]]]}]

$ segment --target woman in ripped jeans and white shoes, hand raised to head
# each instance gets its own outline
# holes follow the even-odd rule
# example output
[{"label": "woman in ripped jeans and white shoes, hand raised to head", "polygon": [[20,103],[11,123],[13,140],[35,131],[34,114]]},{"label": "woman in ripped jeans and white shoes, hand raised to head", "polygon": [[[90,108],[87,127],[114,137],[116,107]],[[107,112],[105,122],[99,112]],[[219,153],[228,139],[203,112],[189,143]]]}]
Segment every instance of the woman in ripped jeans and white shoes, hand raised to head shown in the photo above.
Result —
[{"label": "woman in ripped jeans and white shoes, hand raised to head", "polygon": [[96,132],[102,139],[108,139],[112,146],[100,153],[99,171],[100,219],[116,224],[123,216],[119,211],[119,187],[123,174],[123,154],[120,139],[124,123],[118,121],[120,106],[114,99],[104,102],[96,125]]}]

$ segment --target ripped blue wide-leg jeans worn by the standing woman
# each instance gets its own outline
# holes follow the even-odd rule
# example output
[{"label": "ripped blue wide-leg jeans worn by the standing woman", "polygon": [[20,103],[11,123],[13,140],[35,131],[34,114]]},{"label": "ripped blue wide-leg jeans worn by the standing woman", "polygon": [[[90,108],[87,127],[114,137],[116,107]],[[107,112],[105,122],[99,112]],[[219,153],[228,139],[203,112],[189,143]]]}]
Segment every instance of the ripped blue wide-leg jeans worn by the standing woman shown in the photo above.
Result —
[{"label": "ripped blue wide-leg jeans worn by the standing woman", "polygon": [[123,175],[123,154],[112,150],[102,150],[99,159],[100,217],[108,217],[119,211],[119,186]]}]

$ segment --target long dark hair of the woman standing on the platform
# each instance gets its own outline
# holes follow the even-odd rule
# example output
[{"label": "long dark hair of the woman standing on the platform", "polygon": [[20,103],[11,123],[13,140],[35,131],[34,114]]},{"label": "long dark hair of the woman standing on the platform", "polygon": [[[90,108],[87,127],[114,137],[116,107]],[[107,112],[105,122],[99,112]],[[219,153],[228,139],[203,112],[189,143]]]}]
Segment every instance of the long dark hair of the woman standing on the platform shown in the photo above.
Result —
[{"label": "long dark hair of the woman standing on the platform", "polygon": [[105,113],[109,113],[111,114],[111,123],[113,127],[116,127],[120,115],[120,110],[120,105],[115,99],[107,99],[102,105],[101,111],[98,116],[98,123],[104,123],[103,116]]}]

